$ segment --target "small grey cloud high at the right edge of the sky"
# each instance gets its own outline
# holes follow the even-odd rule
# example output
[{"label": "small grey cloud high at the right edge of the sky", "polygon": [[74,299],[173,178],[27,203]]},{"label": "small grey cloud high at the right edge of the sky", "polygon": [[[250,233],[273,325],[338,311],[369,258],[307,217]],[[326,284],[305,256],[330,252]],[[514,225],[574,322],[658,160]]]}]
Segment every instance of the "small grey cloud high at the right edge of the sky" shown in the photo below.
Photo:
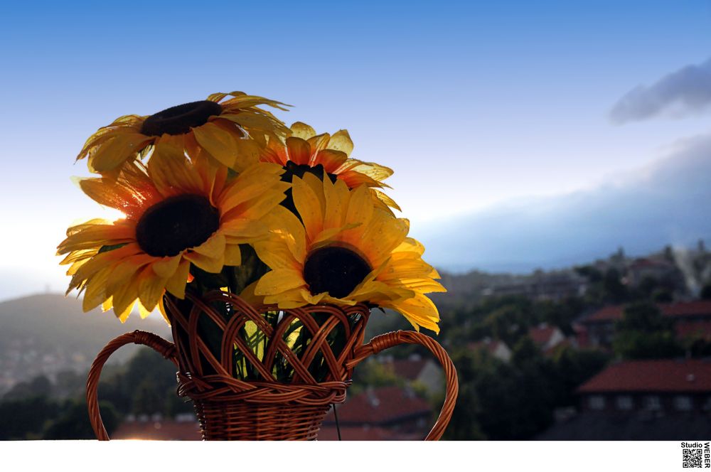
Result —
[{"label": "small grey cloud high at the right edge of the sky", "polygon": [[681,117],[701,112],[709,105],[711,59],[700,65],[687,65],[648,87],[638,85],[614,105],[610,118],[622,124],[666,113]]}]

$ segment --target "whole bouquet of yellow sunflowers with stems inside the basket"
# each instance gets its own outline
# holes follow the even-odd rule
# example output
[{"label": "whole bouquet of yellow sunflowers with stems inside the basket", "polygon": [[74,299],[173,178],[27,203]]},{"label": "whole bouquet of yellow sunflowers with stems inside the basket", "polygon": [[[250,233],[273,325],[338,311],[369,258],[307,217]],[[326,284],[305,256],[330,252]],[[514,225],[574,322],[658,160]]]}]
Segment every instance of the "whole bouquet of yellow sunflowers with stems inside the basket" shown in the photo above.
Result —
[{"label": "whole bouquet of yellow sunflowers with stems inside the basket", "polygon": [[[213,94],[147,117],[119,117],[77,156],[95,174],[78,180],[81,190],[124,217],[68,229],[58,246],[69,266],[68,293],[83,294],[85,311],[113,309],[122,322],[136,309],[141,317],[157,309],[173,325],[176,345],[208,365],[182,365],[192,370],[183,372],[186,382],[201,375],[343,380],[333,378],[333,356],[314,352],[316,340],[337,354],[352,351],[346,335],[358,331],[362,340],[357,325],[375,307],[401,313],[416,331],[439,331],[426,294],[444,287],[383,192],[392,170],[353,159],[346,130],[287,127],[265,109],[287,106],[242,92]],[[330,331],[328,307],[347,314]],[[240,310],[251,318],[234,321]],[[305,310],[313,313],[308,322]],[[188,331],[201,339],[186,338]],[[278,361],[265,360],[270,350]],[[215,363],[226,357],[227,364]],[[308,372],[294,368],[304,357],[312,361]]]}]

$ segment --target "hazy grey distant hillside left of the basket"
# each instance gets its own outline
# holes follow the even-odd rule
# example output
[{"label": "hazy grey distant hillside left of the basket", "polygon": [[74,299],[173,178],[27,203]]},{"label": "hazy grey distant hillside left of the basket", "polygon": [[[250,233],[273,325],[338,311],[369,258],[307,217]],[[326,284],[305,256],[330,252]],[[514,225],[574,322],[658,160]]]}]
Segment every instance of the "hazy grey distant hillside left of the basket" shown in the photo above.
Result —
[{"label": "hazy grey distant hillside left of the basket", "polygon": [[[171,339],[169,326],[156,314],[141,320],[134,313],[122,324],[112,312],[83,313],[80,300],[60,294],[1,302],[0,393],[36,375],[85,372],[109,340],[136,329]],[[137,348],[127,345],[111,360],[126,360]]]}]

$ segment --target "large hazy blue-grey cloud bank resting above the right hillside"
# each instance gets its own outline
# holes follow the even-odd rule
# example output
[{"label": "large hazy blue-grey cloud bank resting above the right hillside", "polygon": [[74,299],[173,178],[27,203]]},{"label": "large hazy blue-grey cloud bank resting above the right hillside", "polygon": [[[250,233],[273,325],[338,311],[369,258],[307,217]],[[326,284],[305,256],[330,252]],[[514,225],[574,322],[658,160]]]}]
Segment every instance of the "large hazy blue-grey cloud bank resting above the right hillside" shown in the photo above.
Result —
[{"label": "large hazy blue-grey cloud bank resting above the right hillside", "polygon": [[689,139],[623,183],[498,205],[425,227],[425,259],[449,270],[525,272],[644,254],[711,237],[711,134]]}]

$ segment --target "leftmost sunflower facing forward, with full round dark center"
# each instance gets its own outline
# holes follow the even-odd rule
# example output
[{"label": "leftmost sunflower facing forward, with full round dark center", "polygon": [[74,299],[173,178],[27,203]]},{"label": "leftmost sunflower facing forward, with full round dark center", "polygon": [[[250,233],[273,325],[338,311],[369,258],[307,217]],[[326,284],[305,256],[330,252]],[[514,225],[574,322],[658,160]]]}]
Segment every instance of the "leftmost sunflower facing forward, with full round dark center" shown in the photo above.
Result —
[{"label": "leftmost sunflower facing forward, with full round dark center", "polygon": [[[282,168],[255,163],[228,180],[227,168],[188,161],[158,144],[144,166],[124,163],[117,178],[86,178],[82,190],[126,217],[70,227],[58,254],[71,264],[67,293],[84,292],[83,309],[99,304],[125,321],[138,301],[141,316],[162,307],[166,290],[185,296],[191,264],[205,272],[241,262],[240,244],[267,234],[262,217],[284,199]],[[164,313],[165,316],[165,313]]]}]

